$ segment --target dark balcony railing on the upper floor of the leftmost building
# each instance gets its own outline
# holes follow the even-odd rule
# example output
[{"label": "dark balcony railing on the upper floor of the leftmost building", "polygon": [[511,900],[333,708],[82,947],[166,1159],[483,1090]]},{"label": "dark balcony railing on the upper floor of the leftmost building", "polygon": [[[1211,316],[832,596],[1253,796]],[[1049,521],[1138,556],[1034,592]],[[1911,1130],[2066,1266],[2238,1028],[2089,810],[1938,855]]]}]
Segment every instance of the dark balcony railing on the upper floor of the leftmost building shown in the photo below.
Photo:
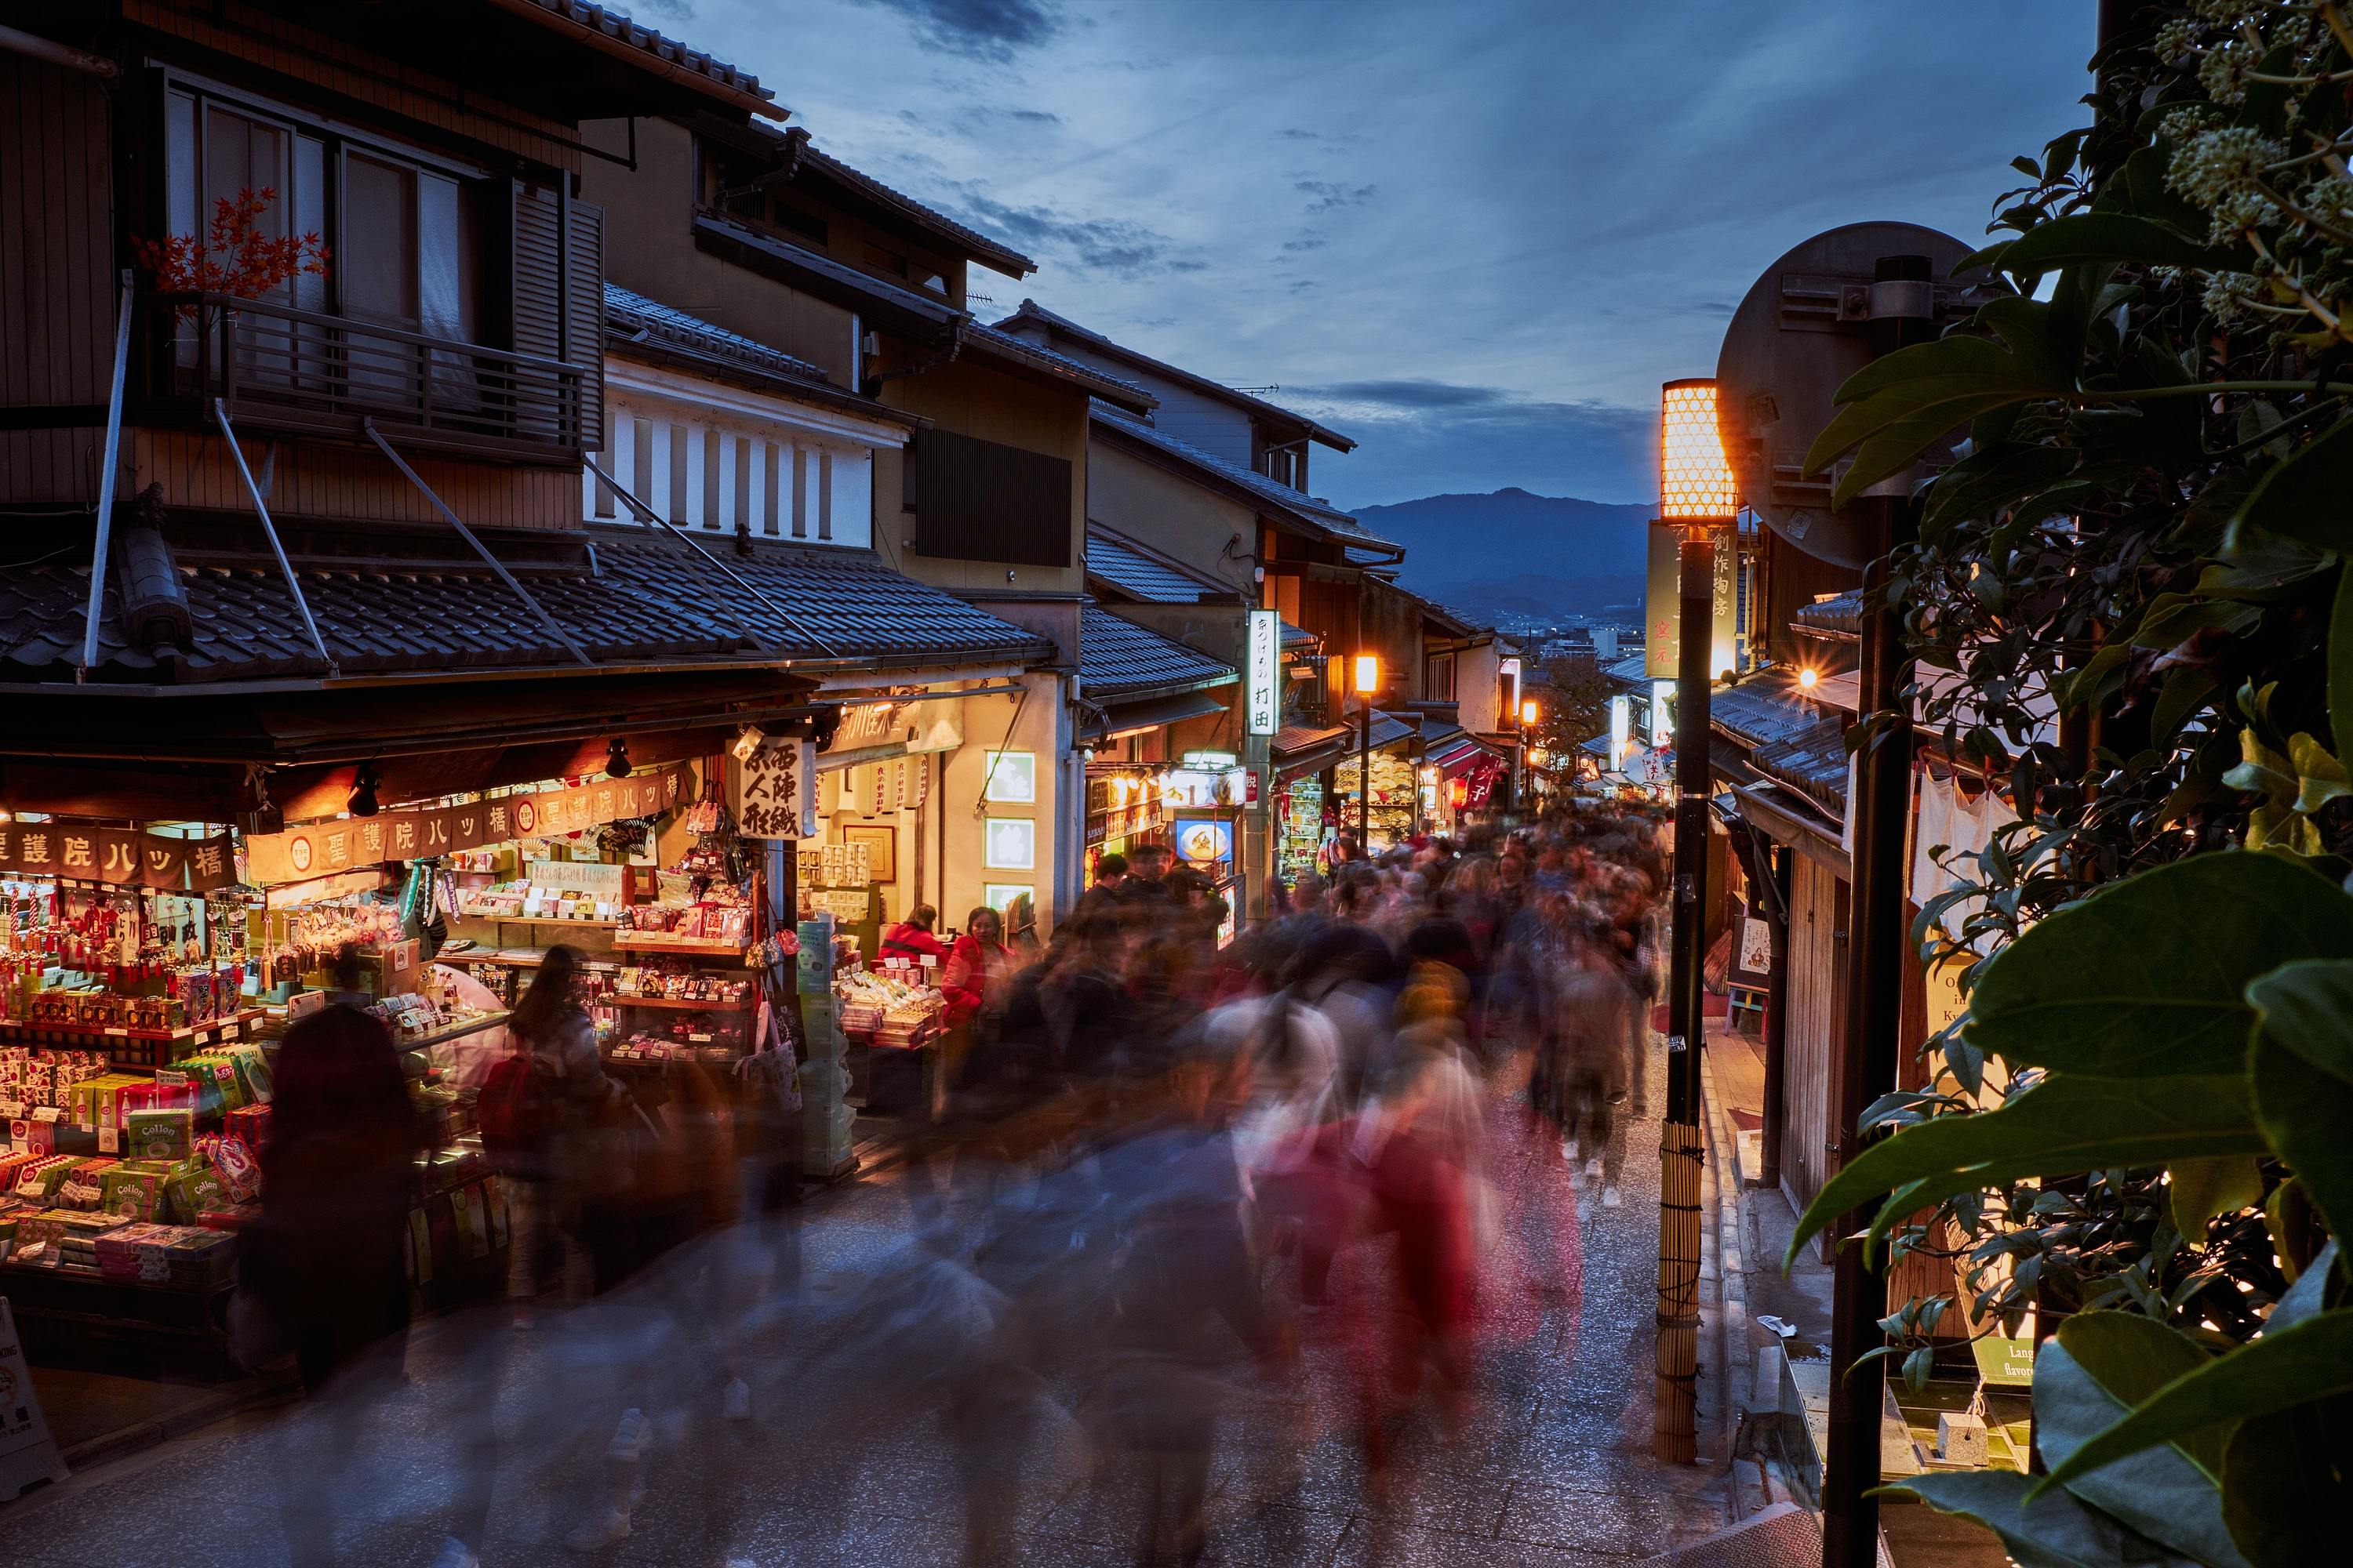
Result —
[{"label": "dark balcony railing on the upper floor of the leftmost building", "polygon": [[576,364],[233,294],[148,294],[139,313],[148,416],[188,404],[209,421],[219,397],[240,425],[271,430],[358,435],[374,421],[414,447],[536,461],[584,449]]}]

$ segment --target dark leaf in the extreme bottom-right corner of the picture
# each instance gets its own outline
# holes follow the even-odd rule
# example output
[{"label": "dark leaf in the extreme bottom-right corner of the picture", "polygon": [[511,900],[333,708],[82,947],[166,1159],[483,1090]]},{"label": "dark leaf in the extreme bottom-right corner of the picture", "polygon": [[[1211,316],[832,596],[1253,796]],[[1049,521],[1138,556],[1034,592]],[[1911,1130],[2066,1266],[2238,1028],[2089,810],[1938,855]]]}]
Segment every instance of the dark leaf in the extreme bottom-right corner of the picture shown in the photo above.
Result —
[{"label": "dark leaf in the extreme bottom-right corner of the picture", "polygon": [[2346,1554],[2353,1519],[2353,1401],[2242,1420],[2221,1469],[2224,1521],[2254,1568],[2308,1568]]}]

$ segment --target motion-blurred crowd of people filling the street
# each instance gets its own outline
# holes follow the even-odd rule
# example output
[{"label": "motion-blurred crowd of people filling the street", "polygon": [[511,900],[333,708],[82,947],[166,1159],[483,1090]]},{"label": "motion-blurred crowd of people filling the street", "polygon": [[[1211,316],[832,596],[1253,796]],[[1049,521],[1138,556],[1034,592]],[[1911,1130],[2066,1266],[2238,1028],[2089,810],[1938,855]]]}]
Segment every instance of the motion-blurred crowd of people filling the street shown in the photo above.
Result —
[{"label": "motion-blurred crowd of people filling the street", "polygon": [[[581,1552],[631,1535],[647,1455],[682,1448],[701,1455],[682,1474],[704,1537],[666,1561],[746,1561],[734,1526],[762,1486],[711,1453],[744,1422],[795,1420],[755,1408],[779,1363],[795,1387],[856,1389],[828,1401],[833,1443],[944,1434],[967,1563],[1016,1561],[1035,1476],[1073,1453],[1118,1500],[1129,1561],[1195,1561],[1221,1432],[1245,1420],[1275,1420],[1294,1450],[1341,1434],[1379,1495],[1412,1443],[1464,1429],[1485,1368],[1558,1354],[1546,1335],[1574,1321],[1579,1213],[1619,1206],[1645,1110],[1664,882],[1654,816],[1586,806],[1379,856],[1344,842],[1329,879],[1285,889],[1224,947],[1224,900],[1151,849],[1104,856],[1042,947],[988,910],[941,943],[918,910],[885,945],[941,961],[953,1027],[899,1152],[906,1225],[824,1298],[800,1291],[779,1128],[685,1161],[680,1199],[722,1197],[661,1215],[614,1267],[591,1234],[612,1159],[584,1128],[642,1121],[692,1145],[680,1128],[704,1107],[612,1084],[562,976],[544,976],[558,990],[518,1020],[546,1056],[551,1154],[513,1171],[496,1321],[551,1333],[442,1331],[487,1385],[449,1443],[442,1568],[480,1561],[496,1476],[567,1486],[546,1469],[562,1443],[518,1436],[513,1413],[501,1441],[522,1342],[555,1347],[574,1392],[605,1389],[558,1401],[605,1443],[569,1450],[586,1474],[558,1535]],[[275,1276],[299,1274],[273,1255]],[[313,1331],[313,1387],[365,1359],[348,1338]],[[322,1495],[308,1479],[289,1537],[301,1516],[304,1542],[322,1540]]]}]

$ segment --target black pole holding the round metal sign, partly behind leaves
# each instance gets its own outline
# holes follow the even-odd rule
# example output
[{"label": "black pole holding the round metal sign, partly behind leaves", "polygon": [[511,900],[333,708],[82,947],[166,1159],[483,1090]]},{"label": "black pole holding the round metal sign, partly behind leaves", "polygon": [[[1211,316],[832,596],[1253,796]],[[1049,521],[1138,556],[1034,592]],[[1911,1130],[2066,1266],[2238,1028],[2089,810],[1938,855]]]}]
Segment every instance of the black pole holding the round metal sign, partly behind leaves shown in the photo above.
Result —
[{"label": "black pole holding the round metal sign, partly behind leaves", "polygon": [[[1927,256],[1880,256],[1871,282],[1871,334],[1880,355],[1922,343],[1934,331],[1934,284]],[[1897,1086],[1899,1030],[1904,1018],[1906,952],[1904,898],[1911,865],[1904,827],[1911,816],[1911,654],[1894,607],[1880,602],[1887,555],[1913,534],[1911,480],[1899,475],[1873,487],[1861,501],[1871,527],[1864,567],[1864,635],[1857,708],[1880,729],[1857,755],[1854,773],[1854,898],[1847,933],[1847,1039],[1833,1077],[1833,1128],[1838,1164],[1864,1150],[1857,1124],[1864,1110]],[[1852,1237],[1871,1222],[1854,1211],[1833,1227]],[[1887,1401],[1887,1361],[1871,1356],[1887,1338],[1887,1269],[1864,1260],[1859,1244],[1838,1248],[1831,1286],[1831,1410],[1821,1479],[1824,1568],[1873,1568],[1878,1563],[1880,1420]]]}]

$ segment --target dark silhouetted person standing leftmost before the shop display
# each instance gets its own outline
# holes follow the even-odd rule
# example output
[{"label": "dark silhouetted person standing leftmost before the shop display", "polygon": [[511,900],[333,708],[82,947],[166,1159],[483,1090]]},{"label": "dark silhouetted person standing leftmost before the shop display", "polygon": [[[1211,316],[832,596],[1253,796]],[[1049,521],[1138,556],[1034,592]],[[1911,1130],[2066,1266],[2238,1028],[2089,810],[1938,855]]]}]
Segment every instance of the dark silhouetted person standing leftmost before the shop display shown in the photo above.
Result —
[{"label": "dark silhouetted person standing leftmost before the shop display", "polygon": [[367,1401],[400,1378],[409,1326],[405,1237],[424,1126],[391,1030],[360,1004],[360,952],[334,959],[334,999],[278,1046],[261,1218],[240,1244],[240,1284],[320,1406],[325,1443],[299,1446],[282,1495],[296,1568],[332,1561],[334,1486]]}]

